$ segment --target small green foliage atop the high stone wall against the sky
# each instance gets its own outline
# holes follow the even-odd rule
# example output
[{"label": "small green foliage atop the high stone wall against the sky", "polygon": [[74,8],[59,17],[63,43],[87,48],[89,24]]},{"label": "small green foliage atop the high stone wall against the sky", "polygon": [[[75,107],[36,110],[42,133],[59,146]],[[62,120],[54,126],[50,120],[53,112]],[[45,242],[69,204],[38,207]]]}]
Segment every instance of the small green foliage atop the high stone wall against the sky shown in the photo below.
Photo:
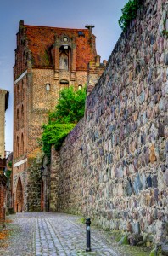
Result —
[{"label": "small green foliage atop the high stone wall against the sky", "polygon": [[136,18],[137,9],[141,6],[140,0],[129,0],[128,3],[122,9],[122,16],[119,20],[119,25],[123,31],[126,30],[127,26],[130,24],[130,21]]}]

